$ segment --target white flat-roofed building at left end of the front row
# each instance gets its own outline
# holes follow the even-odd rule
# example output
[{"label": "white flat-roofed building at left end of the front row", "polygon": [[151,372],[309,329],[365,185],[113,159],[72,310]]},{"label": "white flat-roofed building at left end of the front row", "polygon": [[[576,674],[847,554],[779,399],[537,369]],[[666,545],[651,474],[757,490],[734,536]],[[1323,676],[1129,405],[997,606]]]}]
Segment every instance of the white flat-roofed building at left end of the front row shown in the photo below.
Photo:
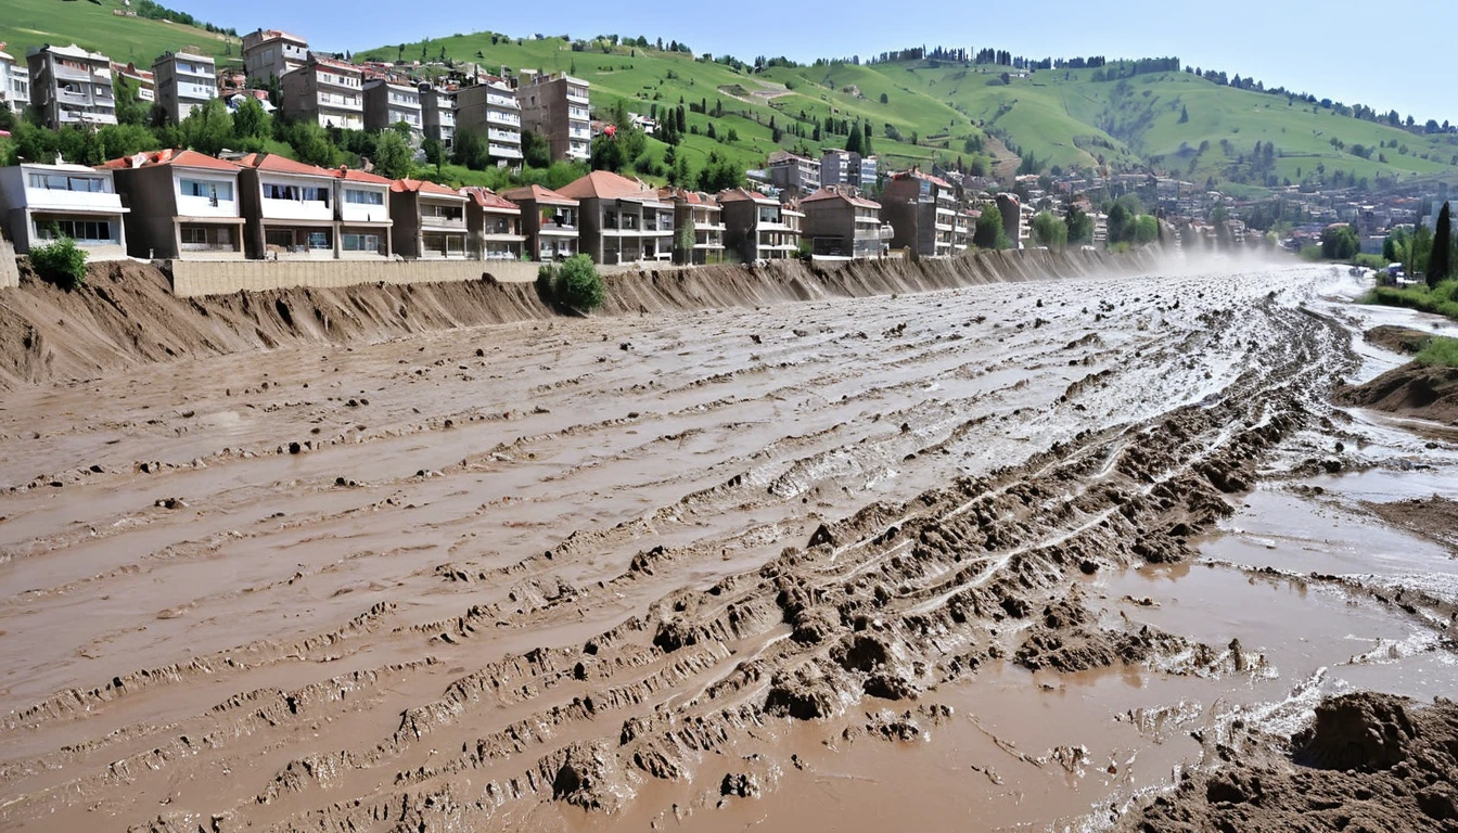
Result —
[{"label": "white flat-roofed building at left end of the front row", "polygon": [[92,260],[125,257],[125,216],[111,171],[60,162],[0,168],[0,220],[16,254],[58,232]]}]

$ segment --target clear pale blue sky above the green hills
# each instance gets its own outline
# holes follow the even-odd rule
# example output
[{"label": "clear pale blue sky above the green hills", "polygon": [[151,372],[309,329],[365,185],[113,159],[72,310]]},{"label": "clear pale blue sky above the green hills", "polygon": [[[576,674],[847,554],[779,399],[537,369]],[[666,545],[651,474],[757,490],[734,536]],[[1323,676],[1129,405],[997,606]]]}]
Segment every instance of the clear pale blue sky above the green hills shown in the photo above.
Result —
[{"label": "clear pale blue sky above the green hills", "polygon": [[327,51],[490,29],[679,39],[739,58],[872,55],[901,47],[996,47],[1028,57],[1178,55],[1267,86],[1458,121],[1449,0],[162,0],[239,34],[287,29]]}]

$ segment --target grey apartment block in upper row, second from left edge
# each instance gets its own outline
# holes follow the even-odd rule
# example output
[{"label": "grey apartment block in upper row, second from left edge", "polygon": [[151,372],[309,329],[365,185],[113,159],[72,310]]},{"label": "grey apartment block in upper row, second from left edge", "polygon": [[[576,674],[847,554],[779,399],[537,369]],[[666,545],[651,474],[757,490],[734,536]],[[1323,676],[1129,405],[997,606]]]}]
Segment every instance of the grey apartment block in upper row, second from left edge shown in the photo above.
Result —
[{"label": "grey apartment block in upper row, second from left edge", "polygon": [[71,44],[32,48],[25,60],[31,70],[31,106],[47,127],[117,124],[111,58]]}]

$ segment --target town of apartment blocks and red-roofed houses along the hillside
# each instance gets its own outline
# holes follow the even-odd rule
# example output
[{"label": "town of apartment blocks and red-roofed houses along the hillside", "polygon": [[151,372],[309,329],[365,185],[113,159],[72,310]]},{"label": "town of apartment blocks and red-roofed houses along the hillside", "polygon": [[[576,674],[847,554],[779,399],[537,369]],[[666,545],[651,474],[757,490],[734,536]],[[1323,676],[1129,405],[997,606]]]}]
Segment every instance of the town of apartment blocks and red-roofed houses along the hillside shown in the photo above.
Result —
[{"label": "town of apartment blocks and red-roofed houses along the hillside", "polygon": [[[66,236],[93,260],[550,263],[580,252],[605,266],[694,266],[1155,241],[1309,249],[1341,223],[1362,252],[1378,255],[1394,232],[1432,225],[1433,206],[1448,197],[1442,182],[1381,195],[1287,185],[1271,203],[1152,172],[1054,168],[999,178],[961,160],[892,171],[872,152],[869,123],[865,134],[850,124],[846,147],[819,159],[777,149],[749,171],[712,159],[700,177],[679,165],[663,184],[640,178],[617,144],[634,133],[682,133],[682,104],[633,112],[621,101],[593,102],[589,82],[566,71],[399,58],[324,54],[278,29],[242,36],[241,69],[219,67],[195,47],[157,55],[149,69],[76,45],[31,47],[23,64],[0,51],[0,115],[9,120],[0,127],[54,139],[17,147],[0,168],[4,233],[19,254]],[[698,106],[710,109],[707,99]],[[156,136],[178,142],[115,155],[87,144],[136,108],[160,128]],[[299,139],[210,147],[208,125],[225,111],[235,139],[274,118],[299,127]],[[325,166],[300,150],[324,131],[379,139],[360,144],[369,153],[356,168]],[[55,139],[77,136],[71,146],[79,142],[89,159],[67,158],[67,140]],[[570,178],[493,190],[440,175],[452,155],[507,172],[535,156]]]}]

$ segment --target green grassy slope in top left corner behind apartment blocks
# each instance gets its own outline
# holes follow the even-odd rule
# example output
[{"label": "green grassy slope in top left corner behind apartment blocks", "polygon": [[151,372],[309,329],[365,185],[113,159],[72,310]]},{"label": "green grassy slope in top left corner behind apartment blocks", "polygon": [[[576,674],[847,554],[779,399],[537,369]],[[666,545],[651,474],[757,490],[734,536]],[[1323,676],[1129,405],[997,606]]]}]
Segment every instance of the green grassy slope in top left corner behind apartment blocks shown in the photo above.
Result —
[{"label": "green grassy slope in top left corner behind apartment blocks", "polygon": [[0,41],[9,44],[6,51],[22,64],[26,48],[42,44],[76,44],[144,69],[150,69],[162,53],[181,47],[197,47],[219,63],[239,54],[238,38],[182,23],[115,15],[118,10],[127,10],[122,0],[4,0]]}]

